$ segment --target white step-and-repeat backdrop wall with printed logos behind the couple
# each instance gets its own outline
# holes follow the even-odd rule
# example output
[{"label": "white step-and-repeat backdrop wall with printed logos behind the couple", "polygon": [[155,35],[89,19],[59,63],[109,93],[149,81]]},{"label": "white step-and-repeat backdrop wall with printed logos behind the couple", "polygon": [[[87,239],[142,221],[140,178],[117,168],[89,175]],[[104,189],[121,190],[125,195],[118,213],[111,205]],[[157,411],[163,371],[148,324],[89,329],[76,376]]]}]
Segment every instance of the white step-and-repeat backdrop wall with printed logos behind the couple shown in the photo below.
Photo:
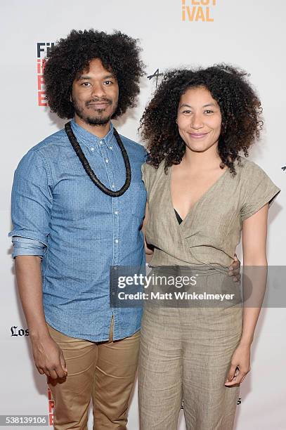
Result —
[{"label": "white step-and-repeat backdrop wall with printed logos behind the couple", "polygon": [[[53,428],[53,399],[45,377],[34,367],[8,239],[13,172],[27,150],[64,124],[46,106],[42,75],[46,52],[72,29],[121,30],[140,39],[147,74],[141,81],[138,106],[115,123],[120,133],[135,141],[140,141],[137,129],[144,106],[168,68],[230,63],[247,70],[261,97],[265,119],[263,136],[250,159],[282,190],[269,213],[268,263],[283,266],[286,4],[283,0],[9,0],[2,1],[0,8],[0,415],[44,415],[46,424],[36,426]],[[241,259],[241,247],[237,253]],[[240,389],[236,430],[286,429],[285,314],[283,304],[261,311],[252,345],[252,370]],[[130,430],[139,429],[136,389],[129,409]],[[12,424],[18,428],[16,422]],[[178,429],[186,429],[183,410]]]}]

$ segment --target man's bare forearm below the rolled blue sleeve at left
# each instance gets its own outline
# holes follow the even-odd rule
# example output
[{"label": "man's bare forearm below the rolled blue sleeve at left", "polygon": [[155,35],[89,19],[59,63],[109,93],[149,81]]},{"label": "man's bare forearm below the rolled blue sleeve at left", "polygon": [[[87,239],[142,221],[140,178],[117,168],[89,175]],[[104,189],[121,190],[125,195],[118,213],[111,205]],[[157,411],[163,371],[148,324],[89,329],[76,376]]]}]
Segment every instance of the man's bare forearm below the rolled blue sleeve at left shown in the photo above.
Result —
[{"label": "man's bare forearm below the rolled blue sleeve at left", "polygon": [[15,273],[31,341],[49,336],[43,308],[41,259],[32,255],[16,256]]}]

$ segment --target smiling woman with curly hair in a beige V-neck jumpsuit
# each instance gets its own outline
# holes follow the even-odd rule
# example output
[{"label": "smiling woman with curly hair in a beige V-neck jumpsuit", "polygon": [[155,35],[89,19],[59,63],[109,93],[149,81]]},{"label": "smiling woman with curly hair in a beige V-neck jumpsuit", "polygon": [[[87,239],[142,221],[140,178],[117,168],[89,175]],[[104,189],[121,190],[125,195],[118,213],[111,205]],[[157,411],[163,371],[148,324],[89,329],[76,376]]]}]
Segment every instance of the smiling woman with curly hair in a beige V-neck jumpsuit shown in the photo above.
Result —
[{"label": "smiling woman with curly hair in a beige V-neck jumpsuit", "polygon": [[[244,265],[267,266],[268,204],[280,192],[246,158],[259,138],[260,115],[246,73],[216,65],[168,72],[141,119],[150,152],[142,171],[153,273],[193,273],[197,292],[222,300],[207,307],[192,300],[173,307],[146,302],[138,373],[141,430],[176,429],[182,399],[187,429],[233,429],[263,292],[242,311],[227,267],[241,230]],[[233,301],[221,294],[229,292]]]}]

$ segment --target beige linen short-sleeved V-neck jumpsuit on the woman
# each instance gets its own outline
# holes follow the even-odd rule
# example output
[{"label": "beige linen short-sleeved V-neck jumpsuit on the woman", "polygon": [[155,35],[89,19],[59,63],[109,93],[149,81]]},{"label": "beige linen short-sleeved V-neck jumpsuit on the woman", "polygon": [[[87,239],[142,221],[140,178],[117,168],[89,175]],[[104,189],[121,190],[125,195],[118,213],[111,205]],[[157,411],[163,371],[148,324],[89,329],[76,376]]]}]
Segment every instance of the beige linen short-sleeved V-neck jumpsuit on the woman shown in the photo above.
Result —
[{"label": "beige linen short-sleeved V-neck jumpsuit on the woman", "polygon": [[[240,242],[242,221],[279,193],[266,173],[241,157],[178,224],[171,203],[171,169],[143,164],[148,192],[146,240],[150,266],[192,266],[216,292]],[[208,273],[210,268],[211,275]],[[221,277],[221,278],[220,278]],[[215,280],[215,282],[214,282]],[[242,332],[242,306],[182,308],[145,304],[138,396],[141,430],[176,430],[183,407],[188,430],[231,430],[239,387],[224,385]]]}]

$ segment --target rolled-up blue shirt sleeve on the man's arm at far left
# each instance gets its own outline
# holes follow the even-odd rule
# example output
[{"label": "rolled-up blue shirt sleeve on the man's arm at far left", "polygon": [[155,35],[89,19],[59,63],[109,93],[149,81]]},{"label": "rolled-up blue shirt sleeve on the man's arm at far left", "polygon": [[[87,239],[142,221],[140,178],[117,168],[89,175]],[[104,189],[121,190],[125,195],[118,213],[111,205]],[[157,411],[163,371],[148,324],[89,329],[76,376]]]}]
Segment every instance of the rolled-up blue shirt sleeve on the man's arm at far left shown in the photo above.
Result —
[{"label": "rolled-up blue shirt sleeve on the man's arm at far left", "polygon": [[48,247],[48,234],[53,204],[53,183],[48,164],[37,150],[30,150],[15,171],[11,218],[14,251],[17,255],[43,256]]}]

